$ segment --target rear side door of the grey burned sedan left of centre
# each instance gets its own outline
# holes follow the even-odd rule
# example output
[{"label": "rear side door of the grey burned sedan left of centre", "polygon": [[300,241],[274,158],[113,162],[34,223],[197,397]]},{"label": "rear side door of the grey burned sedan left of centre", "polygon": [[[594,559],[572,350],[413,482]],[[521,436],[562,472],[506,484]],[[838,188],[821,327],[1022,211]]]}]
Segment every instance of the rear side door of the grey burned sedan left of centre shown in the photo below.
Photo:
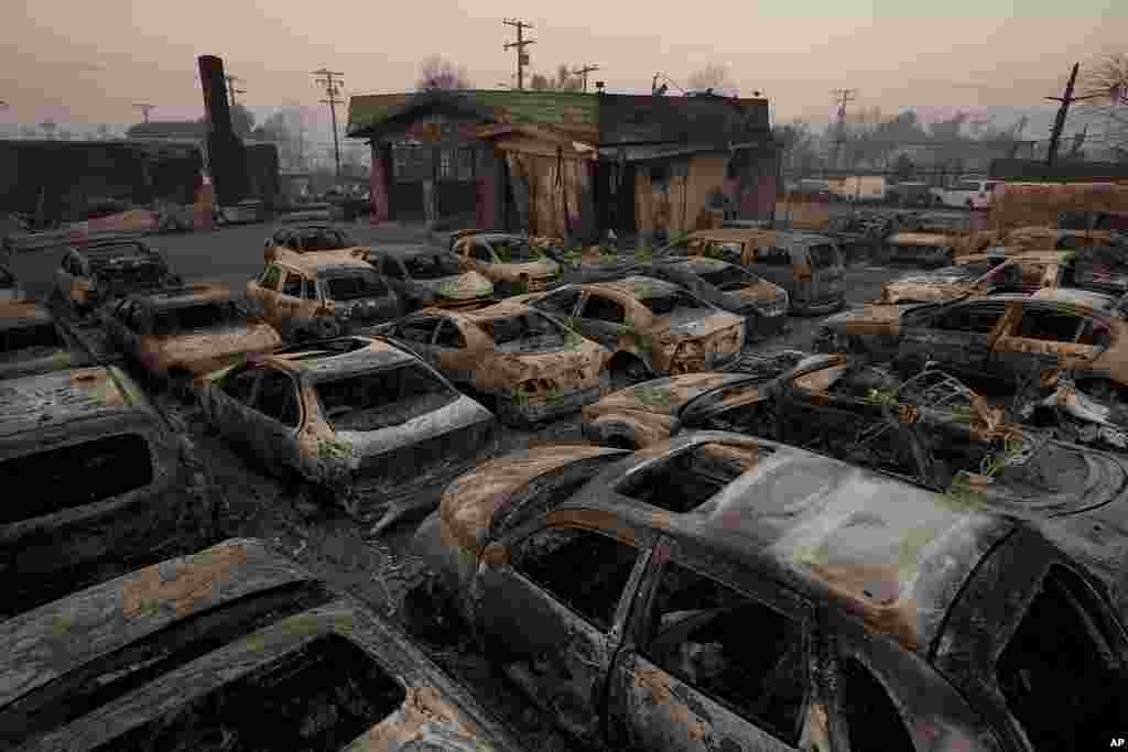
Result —
[{"label": "rear side door of the grey burned sedan left of centre", "polygon": [[255,452],[272,470],[284,474],[301,467],[298,431],[302,407],[298,383],[289,373],[264,369],[247,413]]}]

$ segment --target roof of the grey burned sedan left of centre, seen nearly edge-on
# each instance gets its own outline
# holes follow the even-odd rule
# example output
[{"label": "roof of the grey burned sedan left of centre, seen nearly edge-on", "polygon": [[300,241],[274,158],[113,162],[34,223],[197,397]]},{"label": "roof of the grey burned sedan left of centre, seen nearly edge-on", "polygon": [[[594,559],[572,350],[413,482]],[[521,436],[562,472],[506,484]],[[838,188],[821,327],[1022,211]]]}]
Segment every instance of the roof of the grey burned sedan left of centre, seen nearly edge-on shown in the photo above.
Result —
[{"label": "roof of the grey burned sedan left of centre, seen nearly edge-on", "polygon": [[257,356],[263,363],[314,381],[325,381],[408,363],[417,359],[406,350],[374,337],[359,335],[303,343]]}]

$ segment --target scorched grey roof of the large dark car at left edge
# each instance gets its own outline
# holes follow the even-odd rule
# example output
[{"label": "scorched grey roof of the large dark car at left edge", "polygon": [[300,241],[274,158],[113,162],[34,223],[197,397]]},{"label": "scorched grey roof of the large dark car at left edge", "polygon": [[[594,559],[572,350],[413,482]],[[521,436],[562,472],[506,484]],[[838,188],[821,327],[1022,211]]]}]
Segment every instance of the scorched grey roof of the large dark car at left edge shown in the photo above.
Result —
[{"label": "scorched grey roof of the large dark car at left edge", "polygon": [[127,375],[114,366],[53,371],[0,381],[0,436],[71,421],[135,410],[152,413]]}]

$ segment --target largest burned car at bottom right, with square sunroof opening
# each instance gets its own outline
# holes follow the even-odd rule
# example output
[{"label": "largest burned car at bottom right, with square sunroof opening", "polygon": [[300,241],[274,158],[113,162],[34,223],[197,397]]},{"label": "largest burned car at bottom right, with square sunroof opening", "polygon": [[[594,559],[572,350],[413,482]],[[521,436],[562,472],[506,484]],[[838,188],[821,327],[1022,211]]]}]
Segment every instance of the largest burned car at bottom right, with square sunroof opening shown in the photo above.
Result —
[{"label": "largest burned car at bottom right, with square sunroof opening", "polygon": [[732,433],[597,452],[484,465],[413,541],[412,612],[443,599],[582,740],[1086,749],[1128,717],[1122,575],[1038,524]]}]

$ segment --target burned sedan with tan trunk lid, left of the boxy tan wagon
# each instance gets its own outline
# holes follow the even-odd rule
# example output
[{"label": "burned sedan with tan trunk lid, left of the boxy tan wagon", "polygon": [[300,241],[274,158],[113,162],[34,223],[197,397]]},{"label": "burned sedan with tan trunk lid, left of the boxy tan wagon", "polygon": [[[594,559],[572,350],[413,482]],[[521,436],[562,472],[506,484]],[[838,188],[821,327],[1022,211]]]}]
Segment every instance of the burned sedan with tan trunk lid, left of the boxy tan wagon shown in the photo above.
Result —
[{"label": "burned sedan with tan trunk lid, left of the boxy tan wagon", "polygon": [[148,374],[187,396],[195,377],[282,344],[248,318],[227,285],[204,282],[130,295],[103,310],[111,339]]}]

